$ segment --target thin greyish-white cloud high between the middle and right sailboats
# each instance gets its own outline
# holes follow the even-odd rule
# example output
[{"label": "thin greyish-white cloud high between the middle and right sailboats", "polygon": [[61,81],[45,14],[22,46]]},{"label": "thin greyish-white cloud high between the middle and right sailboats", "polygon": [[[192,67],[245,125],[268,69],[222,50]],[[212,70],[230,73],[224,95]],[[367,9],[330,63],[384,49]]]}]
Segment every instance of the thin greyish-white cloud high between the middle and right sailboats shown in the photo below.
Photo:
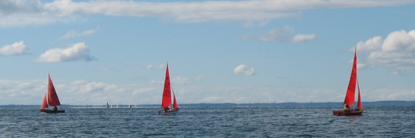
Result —
[{"label": "thin greyish-white cloud high between the middle and right sailboats", "polygon": [[286,26],[284,28],[277,28],[265,32],[257,38],[259,41],[290,41],[290,42],[302,42],[311,41],[317,38],[317,34],[295,34],[294,28]]}]

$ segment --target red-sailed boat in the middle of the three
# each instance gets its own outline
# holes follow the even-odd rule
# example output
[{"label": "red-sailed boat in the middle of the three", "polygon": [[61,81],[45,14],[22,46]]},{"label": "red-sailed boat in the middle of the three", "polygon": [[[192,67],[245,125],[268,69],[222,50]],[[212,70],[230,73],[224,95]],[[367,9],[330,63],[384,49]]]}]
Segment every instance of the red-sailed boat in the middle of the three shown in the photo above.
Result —
[{"label": "red-sailed boat in the middle of the three", "polygon": [[[172,92],[173,105],[170,109],[169,106],[172,104]],[[163,108],[163,110],[158,110],[158,114],[172,114],[178,112],[180,109],[177,105],[176,95],[174,95],[174,91],[172,91],[172,87],[170,86],[169,64],[167,64],[166,68],[165,85],[163,90],[163,97],[161,100],[161,108]]]}]

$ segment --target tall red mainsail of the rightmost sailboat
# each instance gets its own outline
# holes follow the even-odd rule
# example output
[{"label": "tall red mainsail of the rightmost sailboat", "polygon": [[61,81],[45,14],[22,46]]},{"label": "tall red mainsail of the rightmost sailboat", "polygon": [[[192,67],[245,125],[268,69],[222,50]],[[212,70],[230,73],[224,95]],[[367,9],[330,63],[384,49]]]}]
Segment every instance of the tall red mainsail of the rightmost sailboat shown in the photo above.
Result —
[{"label": "tall red mainsail of the rightmost sailboat", "polygon": [[355,57],[353,59],[353,67],[351,69],[349,87],[347,88],[346,97],[344,98],[344,104],[352,105],[354,103],[355,91],[356,91],[356,80],[357,80],[358,70],[357,70],[357,61],[356,61],[356,50]]}]

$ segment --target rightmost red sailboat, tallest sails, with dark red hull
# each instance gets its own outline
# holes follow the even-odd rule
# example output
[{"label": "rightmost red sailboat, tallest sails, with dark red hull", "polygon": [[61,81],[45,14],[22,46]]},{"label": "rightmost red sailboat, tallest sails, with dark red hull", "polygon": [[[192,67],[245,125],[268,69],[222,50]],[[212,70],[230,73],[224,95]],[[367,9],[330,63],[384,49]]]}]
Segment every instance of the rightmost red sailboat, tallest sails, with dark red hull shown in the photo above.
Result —
[{"label": "rightmost red sailboat, tallest sails, with dark red hull", "polygon": [[[362,101],[360,99],[360,88],[359,88],[359,81],[358,81],[357,64],[358,64],[358,61],[356,59],[356,48],[355,48],[355,55],[353,59],[353,66],[351,68],[349,86],[347,87],[346,97],[344,97],[344,110],[333,110],[333,115],[335,116],[362,115],[363,111],[365,110],[362,107]],[[351,109],[350,106],[353,105],[353,103],[355,102],[356,84],[358,86],[358,108]]]}]

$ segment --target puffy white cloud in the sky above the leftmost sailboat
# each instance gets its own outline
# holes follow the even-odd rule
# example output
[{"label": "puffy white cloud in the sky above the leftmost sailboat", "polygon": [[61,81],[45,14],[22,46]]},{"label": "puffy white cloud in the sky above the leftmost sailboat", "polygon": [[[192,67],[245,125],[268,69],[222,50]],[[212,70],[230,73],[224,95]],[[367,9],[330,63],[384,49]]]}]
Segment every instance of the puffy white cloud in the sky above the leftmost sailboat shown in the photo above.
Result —
[{"label": "puffy white cloud in the sky above the leftmost sailboat", "polygon": [[39,62],[61,61],[92,61],[95,58],[89,55],[89,48],[82,43],[75,43],[69,48],[54,48],[44,52],[37,58]]}]

